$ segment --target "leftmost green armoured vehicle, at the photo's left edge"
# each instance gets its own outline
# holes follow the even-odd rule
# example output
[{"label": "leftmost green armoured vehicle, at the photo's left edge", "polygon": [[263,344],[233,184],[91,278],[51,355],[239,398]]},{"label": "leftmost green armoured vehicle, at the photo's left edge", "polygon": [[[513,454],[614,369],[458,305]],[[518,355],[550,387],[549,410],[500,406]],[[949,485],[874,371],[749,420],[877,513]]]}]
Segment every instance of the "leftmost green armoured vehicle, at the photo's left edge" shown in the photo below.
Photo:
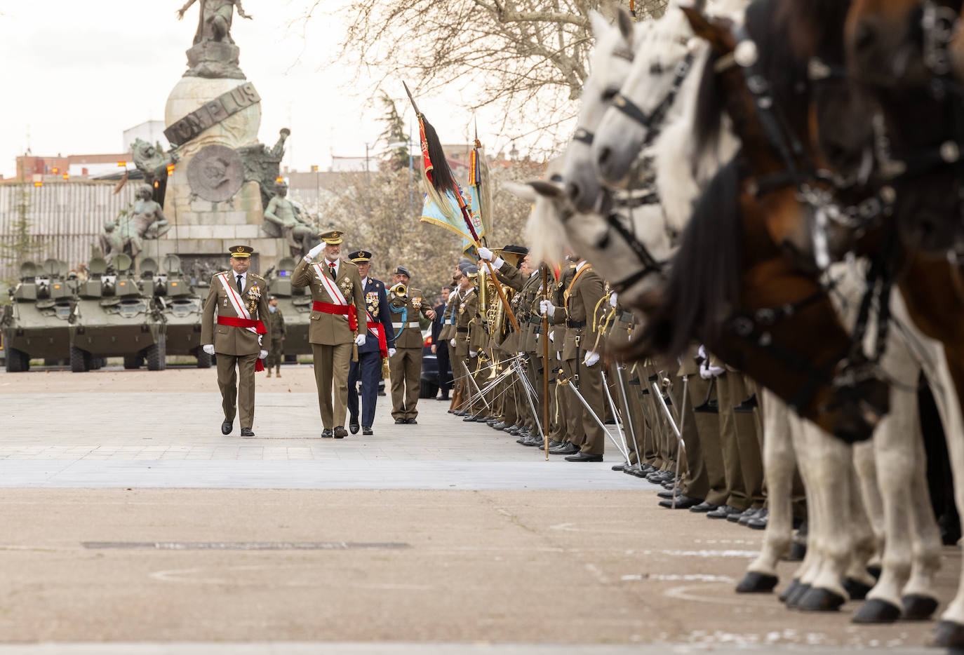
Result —
[{"label": "leftmost green armoured vehicle, at the photo's left edge", "polygon": [[8,373],[30,370],[32,358],[47,362],[66,359],[70,352],[68,320],[75,302],[67,264],[48,259],[41,266],[20,265],[20,282],[10,290],[11,304],[3,308],[3,330]]}]

